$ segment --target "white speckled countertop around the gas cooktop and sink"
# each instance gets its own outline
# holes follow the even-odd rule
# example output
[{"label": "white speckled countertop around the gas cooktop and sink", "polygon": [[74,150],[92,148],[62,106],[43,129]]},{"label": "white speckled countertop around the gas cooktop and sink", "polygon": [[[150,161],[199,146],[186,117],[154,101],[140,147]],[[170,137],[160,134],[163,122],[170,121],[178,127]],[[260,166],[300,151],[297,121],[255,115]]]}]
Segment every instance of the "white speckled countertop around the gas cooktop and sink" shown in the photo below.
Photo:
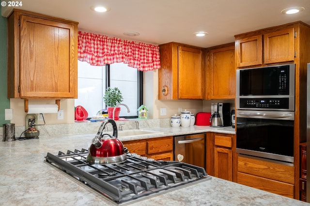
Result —
[{"label": "white speckled countertop around the gas cooktop and sink", "polygon": [[[130,129],[130,128],[129,128]],[[230,128],[157,128],[162,136],[197,132],[234,133]],[[88,148],[95,133],[43,136],[0,142],[0,205],[108,206],[111,202],[88,186],[45,162],[47,152]],[[135,137],[136,139],[138,137]],[[146,137],[147,138],[147,137]],[[132,140],[133,138],[123,139]],[[307,203],[212,177],[192,186],[160,194],[135,206],[302,206]]]}]

